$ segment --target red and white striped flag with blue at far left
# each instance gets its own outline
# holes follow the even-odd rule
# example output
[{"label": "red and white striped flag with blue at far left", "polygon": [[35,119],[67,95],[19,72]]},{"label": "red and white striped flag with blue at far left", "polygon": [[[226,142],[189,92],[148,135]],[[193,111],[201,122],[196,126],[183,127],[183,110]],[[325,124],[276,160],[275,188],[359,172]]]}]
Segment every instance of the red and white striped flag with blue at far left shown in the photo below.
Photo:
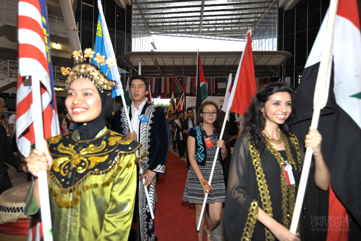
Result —
[{"label": "red and white striped flag with blue at far left", "polygon": [[[46,19],[46,23],[43,19]],[[47,34],[45,0],[19,0],[18,25],[19,77],[16,98],[16,142],[20,152],[28,156],[31,145],[35,144],[36,131],[33,126],[31,78],[41,81],[44,138],[60,134],[52,81],[51,54],[48,46],[50,41]],[[45,30],[47,33],[44,32]]]}]

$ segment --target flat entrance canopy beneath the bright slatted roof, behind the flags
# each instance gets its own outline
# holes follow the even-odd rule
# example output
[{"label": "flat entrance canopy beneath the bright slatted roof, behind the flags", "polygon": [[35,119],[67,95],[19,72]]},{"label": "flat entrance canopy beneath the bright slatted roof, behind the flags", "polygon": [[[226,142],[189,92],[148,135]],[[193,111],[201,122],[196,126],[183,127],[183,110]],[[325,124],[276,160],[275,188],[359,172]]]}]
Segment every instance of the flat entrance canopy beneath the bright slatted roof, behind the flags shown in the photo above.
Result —
[{"label": "flat entrance canopy beneath the bright slatted roof, behind the flags", "polygon": [[[236,74],[242,51],[201,52],[205,77]],[[265,77],[291,57],[286,51],[253,51],[255,76]],[[195,76],[197,52],[129,52],[124,59],[133,66],[141,64],[142,75],[147,77]]]}]

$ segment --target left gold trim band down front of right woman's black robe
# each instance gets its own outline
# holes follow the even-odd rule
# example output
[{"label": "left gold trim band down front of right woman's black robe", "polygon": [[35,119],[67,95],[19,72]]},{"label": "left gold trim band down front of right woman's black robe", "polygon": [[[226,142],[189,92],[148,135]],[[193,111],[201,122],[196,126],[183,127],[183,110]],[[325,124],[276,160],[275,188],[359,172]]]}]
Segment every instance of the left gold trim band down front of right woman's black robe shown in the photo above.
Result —
[{"label": "left gold trim band down front of right woman's black robe", "polygon": [[[262,209],[268,215],[273,217],[270,192],[268,190],[268,185],[266,183],[265,174],[263,173],[260,153],[258,152],[256,147],[251,145],[251,142],[249,140],[249,135],[248,135],[248,146],[249,146],[249,150],[250,150],[250,153],[251,153],[251,156],[252,156],[253,165],[254,165],[255,171],[256,171],[258,190],[260,191],[261,201],[262,201]],[[273,234],[271,233],[271,231],[266,227],[265,227],[265,233],[266,233],[266,240],[267,241],[274,241],[275,240],[275,238],[274,238]]]}]

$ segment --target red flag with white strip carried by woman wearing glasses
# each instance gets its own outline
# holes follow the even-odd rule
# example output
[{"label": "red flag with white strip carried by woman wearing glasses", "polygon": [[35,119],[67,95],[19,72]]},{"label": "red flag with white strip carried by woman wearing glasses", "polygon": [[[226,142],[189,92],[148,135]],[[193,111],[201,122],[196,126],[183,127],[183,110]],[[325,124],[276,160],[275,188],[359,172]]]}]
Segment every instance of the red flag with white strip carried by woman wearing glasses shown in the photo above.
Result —
[{"label": "red flag with white strip carried by woman wearing glasses", "polygon": [[[234,78],[233,88],[227,101],[227,108],[231,111],[243,115],[247,110],[253,96],[257,92],[256,78],[253,63],[251,43],[251,31],[247,33],[247,40],[239,61],[236,77]],[[228,83],[232,79],[228,79]]]}]

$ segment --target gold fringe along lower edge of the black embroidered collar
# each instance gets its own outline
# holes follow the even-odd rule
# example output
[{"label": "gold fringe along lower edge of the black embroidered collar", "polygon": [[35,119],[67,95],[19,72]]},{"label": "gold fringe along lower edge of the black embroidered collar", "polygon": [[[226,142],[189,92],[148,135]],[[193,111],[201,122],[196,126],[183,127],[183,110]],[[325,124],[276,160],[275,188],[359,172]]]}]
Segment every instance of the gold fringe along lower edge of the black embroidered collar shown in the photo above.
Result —
[{"label": "gold fringe along lower edge of the black embroidered collar", "polygon": [[[144,153],[145,149],[141,144],[132,151],[119,151],[109,168],[101,171],[89,171],[82,180],[76,183],[73,187],[67,189],[63,189],[61,183],[57,180],[55,175],[51,175],[48,181],[49,193],[53,196],[54,201],[59,207],[72,208],[80,203],[80,196],[83,192],[98,188],[98,179],[101,179],[102,188],[108,187],[116,178],[118,170],[122,170],[125,167],[132,167],[140,159],[145,157]],[[136,155],[134,163],[132,161],[128,161],[127,163],[124,162],[124,158],[122,157],[125,157],[127,154]]]}]

